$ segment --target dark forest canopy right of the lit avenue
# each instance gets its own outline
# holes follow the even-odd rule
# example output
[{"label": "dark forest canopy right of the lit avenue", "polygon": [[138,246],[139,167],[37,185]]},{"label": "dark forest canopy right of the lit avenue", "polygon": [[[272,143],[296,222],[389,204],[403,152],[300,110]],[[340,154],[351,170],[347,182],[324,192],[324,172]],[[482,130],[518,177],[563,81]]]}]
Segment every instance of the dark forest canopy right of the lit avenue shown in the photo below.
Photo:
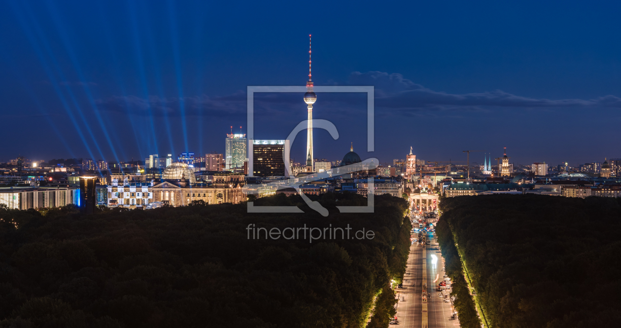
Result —
[{"label": "dark forest canopy right of the lit avenue", "polygon": [[443,255],[462,255],[491,327],[618,325],[621,199],[486,195],[441,208]]}]

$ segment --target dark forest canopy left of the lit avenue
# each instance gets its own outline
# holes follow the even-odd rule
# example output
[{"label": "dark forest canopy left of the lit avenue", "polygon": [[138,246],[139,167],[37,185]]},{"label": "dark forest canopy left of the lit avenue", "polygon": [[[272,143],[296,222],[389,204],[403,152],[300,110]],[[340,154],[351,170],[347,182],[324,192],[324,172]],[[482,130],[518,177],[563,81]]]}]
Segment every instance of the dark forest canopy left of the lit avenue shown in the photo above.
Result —
[{"label": "dark forest canopy left of the lit avenue", "polygon": [[[255,206],[303,214],[247,213],[245,203],[93,215],[0,208],[0,327],[361,327],[369,316],[368,327],[388,326],[386,286],[403,276],[409,250],[407,202],[381,195],[374,213],[338,213],[366,198],[311,198],[330,215],[297,195]],[[251,224],[349,224],[374,237],[248,239]]]}]

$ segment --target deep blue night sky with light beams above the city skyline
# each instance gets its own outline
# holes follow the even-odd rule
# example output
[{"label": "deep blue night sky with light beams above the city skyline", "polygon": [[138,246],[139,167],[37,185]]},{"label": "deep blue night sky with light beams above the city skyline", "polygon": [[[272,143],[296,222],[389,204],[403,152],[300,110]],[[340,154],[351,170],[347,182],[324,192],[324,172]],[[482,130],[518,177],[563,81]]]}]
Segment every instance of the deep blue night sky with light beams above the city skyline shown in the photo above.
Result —
[{"label": "deep blue night sky with light beams above the city skyline", "polygon": [[[319,94],[315,157],[351,142],[382,162],[414,152],[465,161],[621,157],[619,2],[2,1],[0,161],[143,159],[224,152],[246,131],[246,87],[307,79],[376,87],[376,151],[365,97]],[[256,97],[256,138],[306,118],[302,94]],[[304,135],[292,156],[304,157]],[[478,158],[481,157],[481,158]],[[473,154],[471,161],[483,161]]]}]

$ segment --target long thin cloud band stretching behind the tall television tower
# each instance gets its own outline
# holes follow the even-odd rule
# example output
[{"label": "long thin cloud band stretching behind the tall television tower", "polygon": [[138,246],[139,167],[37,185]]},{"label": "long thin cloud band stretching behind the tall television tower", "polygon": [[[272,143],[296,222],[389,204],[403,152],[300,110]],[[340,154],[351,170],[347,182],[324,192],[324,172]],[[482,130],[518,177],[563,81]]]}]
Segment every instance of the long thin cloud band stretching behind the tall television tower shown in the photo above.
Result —
[{"label": "long thin cloud band stretching behind the tall television tower", "polygon": [[[621,98],[605,95],[596,99],[537,99],[510,94],[501,90],[474,92],[469,94],[450,94],[433,91],[401,74],[371,71],[367,73],[353,72],[342,85],[374,86],[376,109],[394,115],[412,116],[422,113],[458,110],[463,112],[488,112],[498,108],[515,109],[555,109],[555,108],[589,108],[609,107],[621,108]],[[193,97],[159,97],[150,95],[147,98],[135,95],[114,95],[106,99],[96,100],[101,110],[129,112],[134,115],[179,116],[181,109],[185,115],[245,115],[247,94],[238,91],[230,95],[212,97],[197,95]],[[296,94],[265,93],[255,95],[255,110],[263,114],[279,115],[297,109],[301,100]],[[358,112],[359,106],[347,100],[347,97],[332,99],[322,106],[331,113]]]}]

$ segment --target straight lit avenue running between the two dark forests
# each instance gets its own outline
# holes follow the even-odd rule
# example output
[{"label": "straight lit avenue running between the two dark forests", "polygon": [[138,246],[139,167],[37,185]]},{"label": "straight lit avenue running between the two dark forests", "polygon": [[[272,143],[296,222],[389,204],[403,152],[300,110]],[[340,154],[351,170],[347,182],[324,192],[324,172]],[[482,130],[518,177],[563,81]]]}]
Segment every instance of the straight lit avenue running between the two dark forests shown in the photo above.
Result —
[{"label": "straight lit avenue running between the two dark forests", "polygon": [[[414,224],[417,226],[417,224]],[[398,324],[391,327],[407,327],[407,328],[430,328],[430,327],[459,327],[460,323],[457,319],[451,320],[452,314],[451,303],[444,302],[439,297],[439,292],[435,290],[440,280],[444,276],[442,268],[444,267],[444,259],[440,252],[437,252],[435,239],[432,239],[432,245],[424,247],[415,242],[410,246],[410,254],[407,258],[406,275],[404,276],[404,288],[397,288],[399,301],[397,302],[397,319]],[[434,264],[433,256],[437,258]],[[427,261],[427,293],[430,297],[427,300],[427,322],[428,327],[422,327],[422,267],[423,261]],[[437,281],[433,282],[434,280]],[[402,299],[405,301],[402,301]]]}]

